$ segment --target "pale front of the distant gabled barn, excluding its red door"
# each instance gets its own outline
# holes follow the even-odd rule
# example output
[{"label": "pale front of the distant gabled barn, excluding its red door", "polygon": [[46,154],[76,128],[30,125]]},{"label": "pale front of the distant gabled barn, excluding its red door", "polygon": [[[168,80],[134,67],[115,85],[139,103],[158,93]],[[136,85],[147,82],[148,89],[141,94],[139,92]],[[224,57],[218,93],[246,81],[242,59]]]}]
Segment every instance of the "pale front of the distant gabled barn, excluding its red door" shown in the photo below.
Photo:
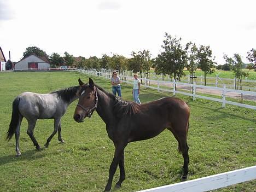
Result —
[{"label": "pale front of the distant gabled barn, excluding its red door", "polygon": [[27,69],[28,63],[30,63],[30,62],[38,63],[38,68],[50,68],[49,63],[46,63],[44,60],[38,58],[35,55],[30,55],[27,58],[25,58],[24,60],[16,63],[15,69]]}]

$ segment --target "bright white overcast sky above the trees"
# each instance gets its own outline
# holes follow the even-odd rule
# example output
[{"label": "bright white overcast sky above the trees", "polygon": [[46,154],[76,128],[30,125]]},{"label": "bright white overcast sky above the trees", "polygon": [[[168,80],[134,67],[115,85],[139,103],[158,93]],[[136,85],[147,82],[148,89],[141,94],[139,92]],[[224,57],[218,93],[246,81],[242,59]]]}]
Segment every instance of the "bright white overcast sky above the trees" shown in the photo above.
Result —
[{"label": "bright white overcast sky above the trees", "polygon": [[102,57],[161,51],[165,32],[209,45],[215,61],[256,49],[256,1],[0,0],[0,46],[19,61],[28,46],[46,54]]}]

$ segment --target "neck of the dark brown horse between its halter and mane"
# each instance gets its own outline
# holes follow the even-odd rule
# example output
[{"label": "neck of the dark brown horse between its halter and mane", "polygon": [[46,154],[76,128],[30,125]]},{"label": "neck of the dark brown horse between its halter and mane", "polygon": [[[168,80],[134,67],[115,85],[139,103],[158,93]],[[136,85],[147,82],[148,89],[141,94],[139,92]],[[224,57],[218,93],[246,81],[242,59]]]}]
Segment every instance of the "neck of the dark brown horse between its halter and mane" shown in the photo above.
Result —
[{"label": "neck of the dark brown horse between its halter and mane", "polygon": [[98,106],[97,106],[97,113],[100,115],[101,119],[109,125],[112,123],[113,120],[113,98],[110,98],[107,94],[103,91],[97,89],[98,95]]}]

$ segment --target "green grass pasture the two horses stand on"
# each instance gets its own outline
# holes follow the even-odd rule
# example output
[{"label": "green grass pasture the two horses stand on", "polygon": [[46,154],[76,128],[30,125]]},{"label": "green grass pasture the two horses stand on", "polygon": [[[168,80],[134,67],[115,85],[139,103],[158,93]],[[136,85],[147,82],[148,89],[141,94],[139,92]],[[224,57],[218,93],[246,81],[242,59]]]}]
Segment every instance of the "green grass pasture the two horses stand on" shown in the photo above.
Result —
[{"label": "green grass pasture the two horses stand on", "polygon": [[[9,72],[0,73],[0,191],[103,191],[114,146],[97,113],[78,124],[73,120],[77,101],[62,118],[62,138],[57,136],[49,148],[38,152],[28,137],[27,122],[21,125],[21,156],[15,157],[15,139],[5,141],[11,105],[24,91],[46,93],[78,85],[76,72]],[[110,91],[106,79],[94,81]],[[131,85],[122,85],[125,100],[132,100]],[[142,90],[143,103],[170,96],[153,90]],[[221,103],[196,100],[177,95],[191,109],[188,145],[190,164],[188,179],[236,170],[255,165],[256,112],[236,106],[221,108]],[[41,147],[53,132],[53,120],[38,120],[34,135]],[[169,131],[147,141],[130,143],[125,148],[126,180],[120,190],[137,191],[180,182],[182,155]],[[119,178],[117,170],[114,183]],[[256,191],[256,181],[232,185],[217,191]]]}]

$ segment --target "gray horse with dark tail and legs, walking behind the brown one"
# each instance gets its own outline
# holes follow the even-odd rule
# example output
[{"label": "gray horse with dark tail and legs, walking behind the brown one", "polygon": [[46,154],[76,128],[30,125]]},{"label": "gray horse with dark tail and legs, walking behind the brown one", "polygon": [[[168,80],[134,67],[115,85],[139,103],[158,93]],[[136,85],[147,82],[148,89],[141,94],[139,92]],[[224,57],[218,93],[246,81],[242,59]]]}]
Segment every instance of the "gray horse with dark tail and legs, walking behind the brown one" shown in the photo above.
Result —
[{"label": "gray horse with dark tail and legs, walking behind the brown one", "polygon": [[80,86],[73,86],[50,94],[23,92],[14,99],[13,112],[6,139],[9,141],[15,134],[16,156],[21,155],[19,149],[20,125],[24,117],[28,122],[27,134],[38,150],[40,150],[40,146],[33,135],[37,119],[54,119],[54,131],[44,144],[46,148],[57,131],[59,141],[61,143],[65,142],[61,138],[61,117],[66,113],[69,104],[78,98],[79,89]]}]

